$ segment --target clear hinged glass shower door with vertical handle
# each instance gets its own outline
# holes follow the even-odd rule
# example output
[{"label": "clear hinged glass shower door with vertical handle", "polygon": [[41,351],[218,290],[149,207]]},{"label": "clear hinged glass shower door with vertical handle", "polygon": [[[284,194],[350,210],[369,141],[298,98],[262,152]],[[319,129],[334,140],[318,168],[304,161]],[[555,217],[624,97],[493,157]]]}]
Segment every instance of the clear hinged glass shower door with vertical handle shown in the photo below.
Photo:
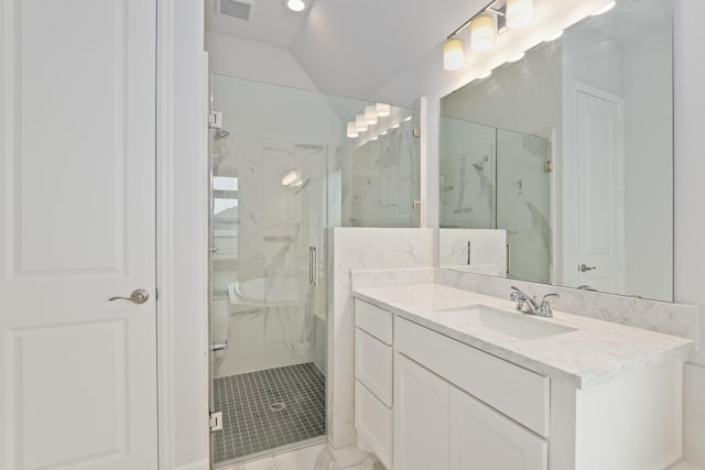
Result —
[{"label": "clear hinged glass shower door with vertical handle", "polygon": [[212,108],[218,467],[325,436],[326,99],[213,75]]}]

